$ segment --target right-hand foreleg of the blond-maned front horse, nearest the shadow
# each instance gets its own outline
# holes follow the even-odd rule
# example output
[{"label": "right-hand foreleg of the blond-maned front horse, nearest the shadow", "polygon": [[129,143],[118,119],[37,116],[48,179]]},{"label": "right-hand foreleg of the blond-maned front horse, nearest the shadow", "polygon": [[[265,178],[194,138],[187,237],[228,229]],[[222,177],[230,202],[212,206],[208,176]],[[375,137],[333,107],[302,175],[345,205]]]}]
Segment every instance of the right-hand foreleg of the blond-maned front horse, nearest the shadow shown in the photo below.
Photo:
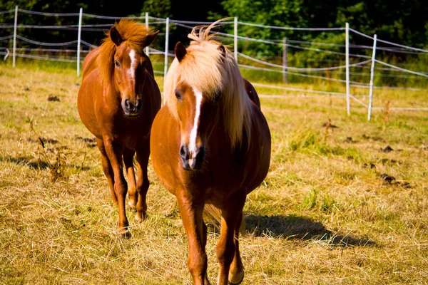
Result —
[{"label": "right-hand foreleg of the blond-maned front horse, nearest the shadow", "polygon": [[[217,259],[219,264],[218,285],[240,284],[243,279],[243,266],[240,261],[235,234],[236,229],[239,229],[239,224],[242,219],[244,203],[245,196],[230,199],[223,205],[221,211],[220,240],[217,244]],[[233,264],[235,267],[231,268],[235,258],[237,264]],[[232,271],[230,271],[230,269],[232,269]],[[236,269],[238,269],[239,272],[236,272]]]}]

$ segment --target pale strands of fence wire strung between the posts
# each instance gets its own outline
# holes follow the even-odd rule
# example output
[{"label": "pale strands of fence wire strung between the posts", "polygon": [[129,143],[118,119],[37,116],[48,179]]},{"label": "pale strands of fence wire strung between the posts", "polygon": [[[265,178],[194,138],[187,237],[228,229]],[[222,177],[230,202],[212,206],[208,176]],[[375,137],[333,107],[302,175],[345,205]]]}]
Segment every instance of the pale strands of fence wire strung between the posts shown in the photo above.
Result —
[{"label": "pale strands of fence wire strung between the posts", "polygon": [[[56,16],[56,17],[78,17],[81,15],[82,17],[89,18],[89,19],[102,19],[102,20],[120,20],[120,19],[134,19],[134,20],[145,20],[146,24],[149,24],[149,26],[153,25],[162,25],[169,23],[169,25],[175,25],[180,26],[183,28],[194,28],[195,26],[199,25],[207,25],[212,24],[212,22],[208,21],[180,21],[180,20],[174,20],[174,19],[161,19],[156,18],[152,16],[132,16],[132,17],[118,17],[118,16],[100,16],[100,15],[94,15],[94,14],[86,14],[86,13],[46,13],[46,12],[39,12],[39,11],[29,11],[24,9],[12,9],[7,11],[0,11],[0,14],[12,14],[12,13],[21,13],[21,14],[34,14],[34,15],[41,15],[41,16]],[[233,19],[233,18],[230,18]],[[227,19],[226,19],[227,20]],[[113,23],[112,23],[113,24]],[[19,34],[16,34],[16,29],[24,29],[24,28],[34,28],[34,29],[46,29],[46,30],[62,30],[62,31],[98,31],[98,32],[105,32],[106,29],[108,29],[112,24],[71,24],[71,25],[25,25],[25,24],[7,24],[7,23],[1,23],[0,28],[4,29],[11,29],[14,28],[15,32],[13,35],[9,36],[3,36],[0,37],[1,42],[8,42],[11,41],[11,39],[14,40],[14,49],[13,54],[14,57],[21,57],[21,58],[33,58],[33,59],[39,59],[39,60],[45,60],[45,61],[62,61],[62,62],[76,62],[79,61],[80,63],[83,62],[83,60],[79,60],[79,56],[70,56],[71,54],[77,54],[80,53],[89,53],[91,49],[96,48],[97,46],[94,44],[89,43],[88,41],[84,41],[83,39],[80,39],[80,41],[66,41],[62,43],[47,43],[43,41],[36,41],[34,39],[25,38],[24,36],[20,36]],[[235,56],[239,62],[239,58],[243,58],[246,61],[250,61],[253,63],[256,63],[258,65],[263,66],[269,66],[270,68],[260,67],[260,66],[250,66],[248,64],[239,64],[239,67],[241,69],[246,70],[256,70],[256,71],[263,71],[263,72],[276,72],[276,73],[282,73],[283,76],[297,76],[302,78],[313,78],[320,81],[328,81],[328,82],[335,82],[337,84],[349,84],[350,87],[353,88],[371,88],[371,89],[392,89],[392,90],[412,90],[415,92],[424,92],[424,94],[427,94],[427,89],[423,88],[403,88],[403,87],[394,87],[394,86],[373,86],[371,83],[362,82],[362,81],[350,81],[349,75],[352,76],[372,76],[371,73],[364,73],[364,72],[355,72],[350,71],[349,68],[362,68],[362,71],[366,68],[370,68],[370,66],[365,66],[367,63],[377,63],[381,66],[387,66],[387,68],[381,68],[376,66],[373,70],[376,71],[377,76],[382,76],[382,78],[412,78],[412,79],[425,79],[428,77],[428,73],[422,72],[422,71],[412,71],[409,68],[402,68],[399,66],[395,66],[391,63],[385,63],[383,61],[379,61],[375,58],[372,59],[372,56],[367,56],[365,54],[357,54],[357,53],[350,53],[349,48],[355,48],[355,49],[365,49],[365,50],[373,50],[372,46],[367,45],[357,45],[355,43],[349,43],[349,39],[347,39],[347,44],[338,44],[338,43],[320,43],[320,42],[312,42],[312,41],[301,41],[300,39],[288,39],[287,43],[284,43],[281,40],[278,39],[263,39],[263,38],[251,38],[248,36],[242,36],[238,35],[238,26],[253,26],[255,28],[267,28],[267,29],[274,29],[274,30],[283,30],[283,31],[338,31],[338,32],[344,32],[349,31],[352,33],[355,33],[359,36],[362,36],[364,38],[368,38],[372,41],[376,37],[368,36],[365,33],[361,33],[360,31],[356,31],[353,28],[347,27],[337,27],[337,28],[302,28],[302,27],[283,27],[283,26],[265,26],[261,24],[253,24],[253,23],[245,23],[241,21],[222,21],[218,23],[219,26],[225,26],[225,25],[234,25],[235,26],[235,33],[223,33],[220,31],[216,32],[216,36],[218,38],[223,36],[224,41],[231,41],[233,40],[233,48]],[[168,29],[167,29],[168,31]],[[165,35],[165,33],[159,33],[158,36],[165,36],[165,46],[168,46],[168,37],[169,35]],[[39,46],[38,48],[16,48],[16,40],[23,41],[27,44],[31,44],[34,46]],[[414,48],[412,46],[404,46],[399,43],[392,43],[389,41],[384,41],[382,39],[377,38],[377,42],[384,43],[386,45],[392,46],[377,46],[376,49],[379,51],[386,51],[391,53],[406,53],[406,54],[414,54],[414,55],[425,55],[428,53],[427,50],[423,48]],[[319,68],[307,68],[307,67],[297,67],[297,66],[290,66],[290,65],[279,65],[276,63],[270,63],[268,61],[262,61],[258,58],[253,58],[252,56],[248,56],[244,53],[238,52],[238,42],[256,42],[256,43],[266,43],[270,45],[276,45],[276,46],[282,46],[283,49],[285,48],[292,48],[296,50],[302,50],[302,51],[314,51],[315,53],[322,53],[324,56],[331,54],[337,57],[352,57],[352,58],[366,58],[365,61],[360,61],[357,63],[349,63],[347,65],[340,65],[337,66],[328,66],[328,67],[319,67]],[[86,46],[86,49],[73,49],[70,48],[70,46],[80,46],[80,43],[83,46]],[[331,51],[326,48],[318,48],[319,46],[325,46],[326,48],[328,46],[335,47],[336,51]],[[41,48],[42,47],[42,48]],[[58,47],[58,48],[43,48],[43,47]],[[59,47],[64,47],[59,48]],[[340,52],[337,51],[337,48],[345,48],[347,52]],[[16,51],[19,51],[19,53],[16,53]],[[24,53],[24,51],[29,51],[31,54]],[[149,51],[150,55],[158,55],[158,56],[168,56],[168,57],[174,57],[175,55],[173,53],[170,53],[170,51],[160,51],[155,48],[149,47],[147,49]],[[4,55],[6,58],[9,57],[9,53],[11,53],[11,47],[0,47],[0,54]],[[33,54],[38,53],[38,54]],[[47,54],[41,54],[41,53],[47,53]],[[51,53],[55,53],[56,55],[52,55]],[[60,53],[66,53],[66,56],[58,55]],[[336,57],[336,58],[337,58]],[[338,62],[342,63],[344,60],[335,60],[330,62]],[[310,59],[308,59],[307,62],[310,62]],[[329,62],[326,59],[315,61],[318,63],[321,62]],[[168,63],[167,60],[165,60],[165,65]],[[345,69],[345,72],[340,71],[342,69]],[[156,74],[159,75],[165,75],[165,72],[168,70],[168,66],[165,66],[165,71],[155,71]],[[373,72],[374,72],[373,71]],[[386,71],[386,72],[393,72],[397,74],[384,74],[379,73],[379,71]],[[347,75],[347,80],[341,79],[341,78],[332,78],[330,76],[331,73],[335,73],[337,75]],[[318,75],[312,75],[307,73],[320,73],[320,76]],[[321,74],[328,73],[329,76],[322,76]],[[402,73],[410,73],[412,76],[404,75]],[[330,83],[329,83],[330,84]],[[324,90],[307,90],[302,88],[292,88],[292,87],[285,87],[285,86],[274,86],[269,84],[261,84],[261,83],[254,83],[253,85],[263,87],[263,88],[270,88],[270,89],[280,89],[280,90],[286,90],[290,92],[299,92],[299,93],[312,93],[316,94],[314,96],[328,96],[328,97],[347,97],[351,98],[352,100],[355,100],[358,104],[362,105],[364,108],[369,108],[371,106],[368,106],[364,102],[362,102],[360,99],[357,98],[357,95],[352,95],[350,93],[340,93],[340,92],[329,92]],[[261,95],[265,98],[277,98],[277,97],[284,97],[284,96],[291,96],[291,95]],[[367,95],[362,95],[366,97]],[[296,95],[295,97],[303,97],[303,98],[309,98],[311,95]],[[372,107],[372,109],[379,109],[379,107]],[[428,110],[428,108],[391,108],[391,110]]]}]

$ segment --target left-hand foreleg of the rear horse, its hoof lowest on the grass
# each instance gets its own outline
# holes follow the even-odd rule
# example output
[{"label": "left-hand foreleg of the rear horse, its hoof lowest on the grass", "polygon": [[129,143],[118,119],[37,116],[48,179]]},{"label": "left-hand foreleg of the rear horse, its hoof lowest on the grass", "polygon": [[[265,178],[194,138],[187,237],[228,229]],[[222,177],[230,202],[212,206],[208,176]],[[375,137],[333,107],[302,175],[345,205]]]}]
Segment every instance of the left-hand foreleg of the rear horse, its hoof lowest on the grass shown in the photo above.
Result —
[{"label": "left-hand foreleg of the rear horse, its hoof lowest on the grass", "polygon": [[122,155],[123,150],[120,145],[114,143],[111,138],[104,138],[104,147],[106,148],[106,153],[108,159],[110,160],[111,167],[113,168],[114,173],[114,192],[118,198],[118,210],[119,210],[119,224],[118,232],[123,237],[130,237],[131,233],[128,229],[128,219],[126,218],[126,209],[125,209],[125,199],[126,192],[128,191],[128,186],[123,177],[123,163]]}]

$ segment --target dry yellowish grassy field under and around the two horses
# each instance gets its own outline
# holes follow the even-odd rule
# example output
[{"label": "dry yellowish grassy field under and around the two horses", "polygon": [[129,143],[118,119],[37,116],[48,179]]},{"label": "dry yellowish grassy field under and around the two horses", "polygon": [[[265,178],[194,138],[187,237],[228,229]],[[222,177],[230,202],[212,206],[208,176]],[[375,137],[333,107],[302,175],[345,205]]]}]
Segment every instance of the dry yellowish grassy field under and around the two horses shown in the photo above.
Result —
[{"label": "dry yellowish grassy field under and around the two horses", "polygon": [[[133,235],[118,237],[100,155],[78,117],[80,81],[73,69],[0,64],[0,284],[191,284],[175,197],[151,165],[148,219],[128,210]],[[428,113],[389,110],[428,100],[375,95],[384,110],[370,123],[357,103],[348,117],[342,98],[261,99],[272,159],[245,204],[243,284],[428,284]],[[215,284],[218,230],[209,229]]]}]

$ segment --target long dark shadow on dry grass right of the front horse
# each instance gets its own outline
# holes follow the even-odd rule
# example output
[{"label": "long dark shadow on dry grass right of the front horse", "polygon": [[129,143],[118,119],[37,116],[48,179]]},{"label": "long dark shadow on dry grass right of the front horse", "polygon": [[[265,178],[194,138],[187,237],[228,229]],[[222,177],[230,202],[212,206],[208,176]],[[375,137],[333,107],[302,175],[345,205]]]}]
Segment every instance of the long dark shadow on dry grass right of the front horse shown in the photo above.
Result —
[{"label": "long dark shadow on dry grass right of the front horse", "polygon": [[282,239],[301,239],[326,242],[340,247],[375,246],[376,243],[367,237],[334,233],[320,222],[300,216],[245,216],[245,230],[256,237],[276,237]]}]

